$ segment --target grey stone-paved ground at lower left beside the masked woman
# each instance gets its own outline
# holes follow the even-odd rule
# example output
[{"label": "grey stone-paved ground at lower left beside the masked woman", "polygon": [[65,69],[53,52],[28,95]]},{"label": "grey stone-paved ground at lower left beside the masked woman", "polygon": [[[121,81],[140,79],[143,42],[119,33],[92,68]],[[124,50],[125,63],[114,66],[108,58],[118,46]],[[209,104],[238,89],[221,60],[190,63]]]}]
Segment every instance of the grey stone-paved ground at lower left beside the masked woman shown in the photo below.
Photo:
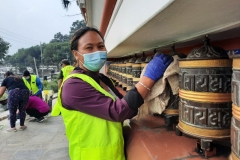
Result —
[{"label": "grey stone-paved ground at lower left beside the masked woman", "polygon": [[[8,115],[1,112],[0,117]],[[0,160],[69,160],[68,141],[61,117],[29,122],[24,131],[6,132],[9,120],[0,121]],[[19,123],[17,123],[19,128]]]}]

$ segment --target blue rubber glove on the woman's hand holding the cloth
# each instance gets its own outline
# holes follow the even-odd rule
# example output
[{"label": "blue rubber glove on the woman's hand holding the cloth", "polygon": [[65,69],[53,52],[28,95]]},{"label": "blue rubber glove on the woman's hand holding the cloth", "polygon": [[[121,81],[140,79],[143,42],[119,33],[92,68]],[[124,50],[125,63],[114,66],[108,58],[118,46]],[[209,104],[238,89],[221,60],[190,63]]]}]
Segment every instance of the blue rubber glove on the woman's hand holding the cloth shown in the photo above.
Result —
[{"label": "blue rubber glove on the woman's hand holding the cloth", "polygon": [[144,76],[156,82],[163,76],[165,70],[172,61],[172,56],[168,56],[166,54],[157,54],[148,63]]}]

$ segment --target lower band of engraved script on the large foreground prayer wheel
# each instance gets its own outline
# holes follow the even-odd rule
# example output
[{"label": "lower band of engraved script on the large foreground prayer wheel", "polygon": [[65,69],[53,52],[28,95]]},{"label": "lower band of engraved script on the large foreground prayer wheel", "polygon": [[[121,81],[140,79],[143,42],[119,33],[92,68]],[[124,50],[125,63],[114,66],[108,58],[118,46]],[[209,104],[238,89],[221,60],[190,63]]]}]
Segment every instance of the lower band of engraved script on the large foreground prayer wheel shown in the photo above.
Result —
[{"label": "lower band of engraved script on the large foreground prayer wheel", "polygon": [[201,128],[230,127],[231,110],[229,108],[194,107],[179,102],[180,119]]}]

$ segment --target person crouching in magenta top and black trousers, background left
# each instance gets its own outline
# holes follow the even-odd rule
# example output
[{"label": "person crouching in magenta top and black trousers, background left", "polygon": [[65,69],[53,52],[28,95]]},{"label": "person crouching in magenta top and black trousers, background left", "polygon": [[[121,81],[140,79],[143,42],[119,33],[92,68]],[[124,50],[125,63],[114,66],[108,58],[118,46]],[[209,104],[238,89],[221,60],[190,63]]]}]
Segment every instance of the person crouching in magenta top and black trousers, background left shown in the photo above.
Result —
[{"label": "person crouching in magenta top and black trousers, background left", "polygon": [[41,98],[30,96],[26,106],[26,112],[30,117],[35,117],[36,121],[41,123],[45,120],[44,116],[50,112],[50,107]]}]

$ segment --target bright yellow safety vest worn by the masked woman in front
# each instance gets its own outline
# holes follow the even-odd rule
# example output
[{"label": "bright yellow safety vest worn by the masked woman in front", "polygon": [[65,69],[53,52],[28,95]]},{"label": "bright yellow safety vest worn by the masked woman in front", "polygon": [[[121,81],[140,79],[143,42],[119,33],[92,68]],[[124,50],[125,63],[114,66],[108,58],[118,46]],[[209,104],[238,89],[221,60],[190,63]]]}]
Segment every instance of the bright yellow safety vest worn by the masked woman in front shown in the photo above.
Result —
[{"label": "bright yellow safety vest worn by the masked woman in front", "polygon": [[[69,78],[80,78],[89,83],[96,90],[112,98],[95,80],[85,74],[71,74]],[[54,105],[52,116],[60,113],[66,127],[66,136],[69,140],[69,155],[71,160],[125,160],[122,124],[108,121],[89,114],[67,110],[62,106],[61,92]]]}]

